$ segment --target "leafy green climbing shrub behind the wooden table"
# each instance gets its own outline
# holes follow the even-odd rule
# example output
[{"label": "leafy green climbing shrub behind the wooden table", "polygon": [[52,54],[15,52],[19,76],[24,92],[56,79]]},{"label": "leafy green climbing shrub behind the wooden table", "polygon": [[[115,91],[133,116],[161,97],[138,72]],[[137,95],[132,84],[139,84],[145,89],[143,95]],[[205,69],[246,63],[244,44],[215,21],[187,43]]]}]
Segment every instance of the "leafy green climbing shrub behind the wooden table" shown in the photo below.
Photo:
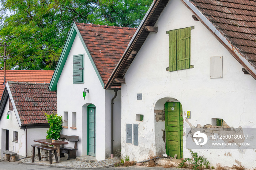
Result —
[{"label": "leafy green climbing shrub behind the wooden table", "polygon": [[48,134],[46,139],[58,140],[60,138],[60,131],[62,130],[62,117],[54,112],[52,112],[52,114],[45,113],[45,115],[50,126],[49,130],[46,131]]}]

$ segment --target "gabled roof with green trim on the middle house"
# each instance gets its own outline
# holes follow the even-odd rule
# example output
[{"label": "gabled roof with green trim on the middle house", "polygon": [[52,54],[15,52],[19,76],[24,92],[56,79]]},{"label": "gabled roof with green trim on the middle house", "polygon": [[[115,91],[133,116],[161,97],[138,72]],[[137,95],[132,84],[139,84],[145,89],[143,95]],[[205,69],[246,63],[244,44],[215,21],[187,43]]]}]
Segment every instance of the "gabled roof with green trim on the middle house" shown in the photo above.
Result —
[{"label": "gabled roof with green trim on the middle house", "polygon": [[104,87],[135,32],[136,28],[74,22],[61,52],[49,90],[57,90],[60,74],[76,34],[78,34],[102,87]]}]

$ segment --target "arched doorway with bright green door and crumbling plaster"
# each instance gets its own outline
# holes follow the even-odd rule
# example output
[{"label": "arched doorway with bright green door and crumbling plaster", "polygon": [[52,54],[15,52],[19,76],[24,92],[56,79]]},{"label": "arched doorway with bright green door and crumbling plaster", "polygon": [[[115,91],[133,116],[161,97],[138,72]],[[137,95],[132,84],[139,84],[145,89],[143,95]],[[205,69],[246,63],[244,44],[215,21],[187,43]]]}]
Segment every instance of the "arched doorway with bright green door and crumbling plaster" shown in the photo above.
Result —
[{"label": "arched doorway with bright green door and crumbling plaster", "polygon": [[164,97],[154,105],[156,154],[183,158],[182,105],[175,98]]}]

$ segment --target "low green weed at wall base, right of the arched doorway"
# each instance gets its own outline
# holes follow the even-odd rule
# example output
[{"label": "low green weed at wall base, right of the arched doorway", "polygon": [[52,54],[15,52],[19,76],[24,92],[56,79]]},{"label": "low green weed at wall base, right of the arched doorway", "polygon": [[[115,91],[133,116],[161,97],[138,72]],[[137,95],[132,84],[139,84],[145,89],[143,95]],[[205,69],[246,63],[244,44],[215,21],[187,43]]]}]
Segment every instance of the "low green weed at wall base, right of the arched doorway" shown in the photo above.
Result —
[{"label": "low green weed at wall base, right of the arched doorway", "polygon": [[193,170],[203,169],[203,165],[206,166],[206,168],[209,167],[210,162],[206,158],[201,156],[199,157],[197,152],[193,152],[191,149],[189,149],[189,152],[191,153],[193,159],[185,158],[184,160],[193,164]]}]

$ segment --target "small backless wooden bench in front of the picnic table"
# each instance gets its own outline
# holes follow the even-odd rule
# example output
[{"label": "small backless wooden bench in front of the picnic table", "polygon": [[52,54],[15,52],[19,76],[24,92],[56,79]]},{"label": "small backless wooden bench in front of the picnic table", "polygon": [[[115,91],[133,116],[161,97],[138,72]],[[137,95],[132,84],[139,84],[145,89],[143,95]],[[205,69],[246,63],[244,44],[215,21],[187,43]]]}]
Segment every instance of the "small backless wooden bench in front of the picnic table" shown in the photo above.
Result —
[{"label": "small backless wooden bench in front of the picnic table", "polygon": [[44,150],[49,151],[50,164],[52,164],[52,151],[54,151],[56,163],[59,163],[58,156],[57,156],[57,148],[53,148],[53,147],[49,147],[49,146],[42,146],[41,144],[32,144],[31,146],[33,147],[32,162],[35,162],[35,148],[37,148],[39,161],[41,161],[40,149],[44,149]]}]

